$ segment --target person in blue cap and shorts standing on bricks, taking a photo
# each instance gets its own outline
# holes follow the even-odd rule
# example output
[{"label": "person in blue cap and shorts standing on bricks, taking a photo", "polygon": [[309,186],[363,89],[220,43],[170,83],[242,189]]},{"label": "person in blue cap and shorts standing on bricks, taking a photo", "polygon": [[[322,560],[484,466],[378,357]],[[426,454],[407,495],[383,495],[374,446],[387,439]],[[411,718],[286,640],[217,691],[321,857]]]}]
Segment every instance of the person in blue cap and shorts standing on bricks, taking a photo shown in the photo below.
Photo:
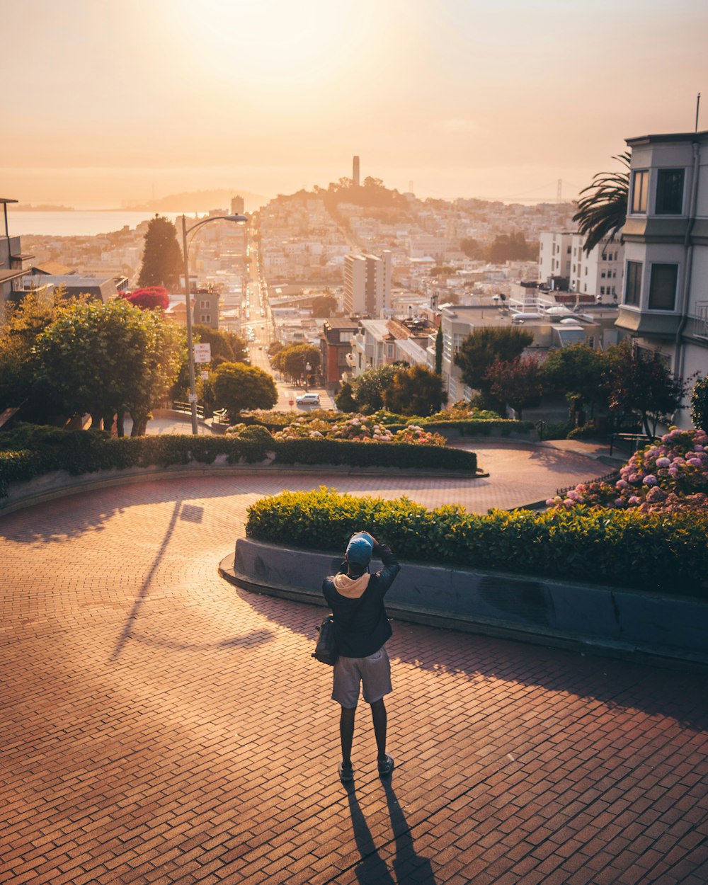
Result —
[{"label": "person in blue cap and shorts standing on bricks, taking a photo", "polygon": [[[381,559],[383,568],[371,574],[372,556]],[[371,706],[373,734],[378,751],[381,777],[393,771],[394,760],[386,752],[386,706],[383,702],[391,687],[391,666],[386,642],[391,625],[383,597],[401,570],[391,549],[380,544],[368,532],[352,535],[339,573],[329,575],[322,592],[335,617],[335,639],[339,658],[334,667],[332,700],[340,704],[339,735],[342,761],[338,771],[344,782],[354,779],[351,744],[359,690]]]}]

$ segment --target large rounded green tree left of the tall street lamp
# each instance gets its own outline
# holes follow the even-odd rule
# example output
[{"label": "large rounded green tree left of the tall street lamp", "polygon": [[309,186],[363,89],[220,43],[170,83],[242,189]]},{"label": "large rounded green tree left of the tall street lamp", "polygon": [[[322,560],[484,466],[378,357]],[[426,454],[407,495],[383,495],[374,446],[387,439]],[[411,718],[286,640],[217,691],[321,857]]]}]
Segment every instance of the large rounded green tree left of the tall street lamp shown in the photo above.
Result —
[{"label": "large rounded green tree left of the tall street lamp", "polygon": [[[184,350],[181,327],[124,299],[78,300],[57,309],[35,344],[35,377],[68,414],[89,413],[111,427],[128,411],[132,435],[144,433],[150,408],[164,399]],[[119,420],[119,435],[122,421]]]}]

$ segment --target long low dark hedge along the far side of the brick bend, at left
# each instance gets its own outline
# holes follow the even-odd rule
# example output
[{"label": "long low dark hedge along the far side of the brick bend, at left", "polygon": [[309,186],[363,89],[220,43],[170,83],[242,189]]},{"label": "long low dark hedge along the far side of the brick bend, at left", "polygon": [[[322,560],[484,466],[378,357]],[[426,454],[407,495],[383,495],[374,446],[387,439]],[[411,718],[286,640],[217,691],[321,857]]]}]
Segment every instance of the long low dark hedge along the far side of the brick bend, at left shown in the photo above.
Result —
[{"label": "long low dark hedge along the far side of the brick bend, at left", "polygon": [[[352,467],[443,468],[475,473],[473,452],[446,450],[411,443],[353,443],[334,440],[245,440],[229,436],[135,436],[111,438],[103,431],[65,431],[54,427],[24,429],[7,435],[0,450],[0,497],[11,482],[28,481],[44,473],[65,470],[74,476],[112,467],[212,464],[226,455],[229,464],[256,464],[275,453],[281,465],[350,465]],[[21,446],[21,448],[20,448]]]}]

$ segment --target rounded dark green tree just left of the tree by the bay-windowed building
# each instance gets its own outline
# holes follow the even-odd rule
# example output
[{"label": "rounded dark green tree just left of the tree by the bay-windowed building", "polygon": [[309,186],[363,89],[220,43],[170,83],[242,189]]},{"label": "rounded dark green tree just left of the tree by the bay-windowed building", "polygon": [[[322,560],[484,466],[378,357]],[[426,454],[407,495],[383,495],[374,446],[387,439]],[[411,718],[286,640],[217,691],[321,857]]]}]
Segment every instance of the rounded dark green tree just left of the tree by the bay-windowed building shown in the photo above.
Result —
[{"label": "rounded dark green tree just left of the tree by the bay-windowed building", "polygon": [[573,425],[583,423],[583,406],[591,413],[596,406],[607,404],[604,388],[604,354],[584,342],[550,350],[543,361],[541,373],[548,389],[558,390],[570,404]]}]

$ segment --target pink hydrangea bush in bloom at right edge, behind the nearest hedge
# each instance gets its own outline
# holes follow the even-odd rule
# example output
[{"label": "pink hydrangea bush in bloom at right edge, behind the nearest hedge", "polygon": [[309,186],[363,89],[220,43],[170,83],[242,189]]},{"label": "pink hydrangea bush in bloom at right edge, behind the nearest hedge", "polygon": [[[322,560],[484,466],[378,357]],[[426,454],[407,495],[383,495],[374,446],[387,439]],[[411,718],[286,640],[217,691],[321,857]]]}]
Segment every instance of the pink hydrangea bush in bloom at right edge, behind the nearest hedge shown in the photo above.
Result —
[{"label": "pink hydrangea bush in bloom at right edge, behind the nearest hedge", "polygon": [[708,434],[673,427],[658,443],[636,451],[620,470],[620,479],[583,482],[546,504],[570,509],[638,508],[641,512],[708,511]]}]

